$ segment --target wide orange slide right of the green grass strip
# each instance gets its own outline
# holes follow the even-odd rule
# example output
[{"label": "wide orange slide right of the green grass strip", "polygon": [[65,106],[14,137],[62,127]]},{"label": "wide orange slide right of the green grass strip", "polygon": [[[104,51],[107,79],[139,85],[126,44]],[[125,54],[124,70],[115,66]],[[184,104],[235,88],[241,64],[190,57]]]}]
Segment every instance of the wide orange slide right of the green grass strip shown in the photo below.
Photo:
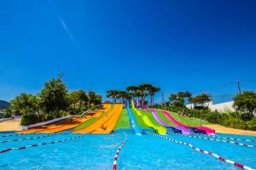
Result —
[{"label": "wide orange slide right of the green grass strip", "polygon": [[113,110],[108,112],[107,115],[102,116],[96,122],[91,123],[89,127],[82,128],[80,130],[74,131],[73,133],[110,133],[118,121],[122,110],[122,104],[114,104]]}]

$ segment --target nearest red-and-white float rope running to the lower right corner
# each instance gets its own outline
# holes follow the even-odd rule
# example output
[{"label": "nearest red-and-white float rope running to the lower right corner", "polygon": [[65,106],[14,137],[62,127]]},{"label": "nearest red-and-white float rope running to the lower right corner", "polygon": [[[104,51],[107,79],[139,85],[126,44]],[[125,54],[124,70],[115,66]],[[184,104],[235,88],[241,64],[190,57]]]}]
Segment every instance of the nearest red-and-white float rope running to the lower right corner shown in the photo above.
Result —
[{"label": "nearest red-and-white float rope running to the lower right corner", "polygon": [[153,134],[154,136],[158,136],[158,137],[163,138],[163,139],[167,139],[167,140],[172,141],[172,142],[175,142],[175,143],[177,143],[177,144],[187,145],[187,146],[189,146],[190,148],[192,148],[193,150],[199,151],[200,153],[203,153],[203,154],[206,154],[206,155],[209,155],[209,156],[216,157],[218,160],[224,161],[224,162],[227,162],[227,163],[230,163],[230,164],[232,164],[232,165],[234,165],[234,166],[236,166],[236,167],[241,167],[241,168],[247,169],[247,170],[255,170],[255,169],[253,169],[252,167],[247,167],[247,166],[242,165],[241,163],[238,163],[238,162],[236,162],[236,161],[228,160],[228,159],[226,159],[226,158],[224,158],[224,157],[222,157],[222,156],[218,156],[217,154],[214,154],[214,153],[212,153],[212,152],[210,152],[210,151],[201,150],[201,149],[195,147],[195,146],[192,145],[192,144],[185,143],[185,142],[181,142],[181,141],[177,141],[177,140],[175,140],[175,139],[171,139],[171,138],[168,138],[168,137],[163,136],[163,135],[160,135],[160,134],[155,134],[155,133],[150,133],[150,134]]}]

